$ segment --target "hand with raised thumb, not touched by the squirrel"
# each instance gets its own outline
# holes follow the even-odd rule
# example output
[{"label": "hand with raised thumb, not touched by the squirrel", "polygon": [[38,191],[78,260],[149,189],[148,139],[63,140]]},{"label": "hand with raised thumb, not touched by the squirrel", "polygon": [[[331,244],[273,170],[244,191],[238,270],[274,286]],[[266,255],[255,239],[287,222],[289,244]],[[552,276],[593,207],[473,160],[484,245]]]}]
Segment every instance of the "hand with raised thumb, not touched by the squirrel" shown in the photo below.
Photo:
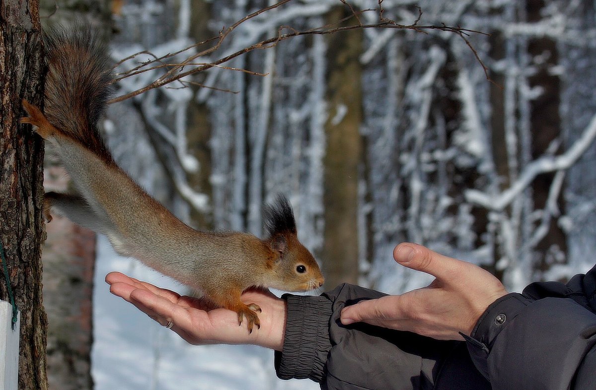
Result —
[{"label": "hand with raised thumb, not touched by the squirrel", "polygon": [[366,322],[409,330],[440,340],[462,340],[505,287],[486,270],[417,244],[399,244],[393,258],[402,266],[436,277],[429,286],[344,307],[344,325]]}]

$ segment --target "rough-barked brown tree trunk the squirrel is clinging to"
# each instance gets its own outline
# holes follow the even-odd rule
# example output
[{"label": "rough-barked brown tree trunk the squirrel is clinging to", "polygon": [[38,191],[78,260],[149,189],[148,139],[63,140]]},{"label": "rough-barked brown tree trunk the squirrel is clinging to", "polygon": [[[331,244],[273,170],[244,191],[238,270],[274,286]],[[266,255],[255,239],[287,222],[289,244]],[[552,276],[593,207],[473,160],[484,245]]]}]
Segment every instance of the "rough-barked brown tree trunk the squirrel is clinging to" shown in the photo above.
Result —
[{"label": "rough-barked brown tree trunk the squirrel is clinging to", "polygon": [[[47,320],[42,305],[40,248],[42,223],[41,139],[18,124],[21,100],[42,101],[42,45],[37,0],[0,2],[0,241],[7,257],[10,285],[21,312],[18,388],[48,388]],[[8,300],[7,283],[0,298]]]}]

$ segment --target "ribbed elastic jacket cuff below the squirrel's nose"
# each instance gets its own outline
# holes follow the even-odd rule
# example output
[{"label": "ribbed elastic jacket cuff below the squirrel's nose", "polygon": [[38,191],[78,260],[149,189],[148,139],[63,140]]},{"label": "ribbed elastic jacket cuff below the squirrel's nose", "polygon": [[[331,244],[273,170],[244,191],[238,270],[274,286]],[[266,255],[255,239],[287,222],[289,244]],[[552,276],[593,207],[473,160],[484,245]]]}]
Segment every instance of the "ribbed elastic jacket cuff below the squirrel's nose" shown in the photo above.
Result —
[{"label": "ribbed elastic jacket cuff below the squirrel's nose", "polygon": [[284,294],[287,301],[283,351],[275,351],[275,373],[280,379],[321,382],[331,350],[329,319],[332,302],[325,297]]}]

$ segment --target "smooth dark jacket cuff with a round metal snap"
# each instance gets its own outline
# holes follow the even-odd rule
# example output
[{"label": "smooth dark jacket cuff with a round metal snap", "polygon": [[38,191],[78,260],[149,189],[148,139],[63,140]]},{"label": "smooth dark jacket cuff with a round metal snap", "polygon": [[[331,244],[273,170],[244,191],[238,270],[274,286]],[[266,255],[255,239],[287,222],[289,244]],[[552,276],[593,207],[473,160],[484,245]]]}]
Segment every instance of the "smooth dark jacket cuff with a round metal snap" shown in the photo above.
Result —
[{"label": "smooth dark jacket cuff with a round metal snap", "polygon": [[478,319],[470,336],[462,334],[465,341],[467,341],[468,351],[474,361],[474,365],[485,377],[488,378],[488,364],[486,360],[491,352],[496,336],[530,302],[532,302],[532,299],[526,298],[517,292],[504,295],[489,305]]}]

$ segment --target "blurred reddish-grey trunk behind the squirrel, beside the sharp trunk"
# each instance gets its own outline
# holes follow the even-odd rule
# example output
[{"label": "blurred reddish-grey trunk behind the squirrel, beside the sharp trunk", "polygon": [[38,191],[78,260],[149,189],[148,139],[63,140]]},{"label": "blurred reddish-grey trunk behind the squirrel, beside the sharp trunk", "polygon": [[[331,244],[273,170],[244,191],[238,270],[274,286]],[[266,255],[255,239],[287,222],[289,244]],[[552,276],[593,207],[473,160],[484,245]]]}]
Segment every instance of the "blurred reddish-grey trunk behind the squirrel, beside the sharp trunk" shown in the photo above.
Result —
[{"label": "blurred reddish-grey trunk behind the squirrel, beside the sharp trunk", "polygon": [[[70,178],[45,167],[44,186],[64,192]],[[64,217],[46,225],[44,302],[48,313],[48,383],[55,390],[91,390],[95,233]]]}]

